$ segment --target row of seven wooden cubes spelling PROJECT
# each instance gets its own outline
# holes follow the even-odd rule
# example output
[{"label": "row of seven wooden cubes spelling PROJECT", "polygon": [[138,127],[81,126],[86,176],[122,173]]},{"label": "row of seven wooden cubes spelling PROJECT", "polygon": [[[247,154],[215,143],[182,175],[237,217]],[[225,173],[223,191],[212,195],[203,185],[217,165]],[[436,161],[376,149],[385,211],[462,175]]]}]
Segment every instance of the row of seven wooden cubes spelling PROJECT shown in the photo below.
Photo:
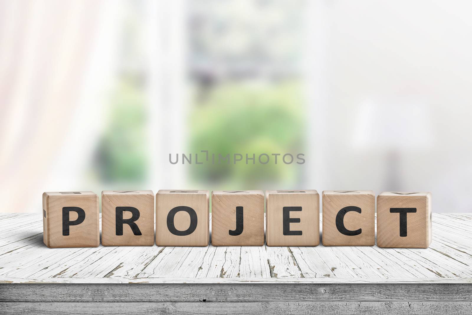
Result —
[{"label": "row of seven wooden cubes spelling PROJECT", "polygon": [[[207,246],[209,191],[159,190],[155,242],[159,246]],[[320,196],[316,190],[266,191],[268,246],[320,244]],[[211,243],[214,246],[264,244],[264,193],[261,190],[213,191]],[[325,246],[375,244],[372,191],[323,191]],[[48,247],[96,247],[98,196],[93,192],[43,194],[44,243]],[[104,246],[154,245],[154,194],[151,190],[103,191]],[[377,197],[377,246],[430,245],[431,193],[384,192]]]}]

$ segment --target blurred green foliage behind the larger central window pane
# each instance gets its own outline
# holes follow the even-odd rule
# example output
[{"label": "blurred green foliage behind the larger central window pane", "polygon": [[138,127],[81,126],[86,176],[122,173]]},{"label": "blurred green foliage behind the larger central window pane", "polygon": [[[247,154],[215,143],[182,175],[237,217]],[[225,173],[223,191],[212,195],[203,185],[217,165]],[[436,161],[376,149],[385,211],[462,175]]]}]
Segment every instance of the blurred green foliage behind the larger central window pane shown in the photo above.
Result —
[{"label": "blurred green foliage behind the larger central window pane", "polygon": [[[277,165],[273,156],[265,165],[257,161],[261,153],[296,155],[303,151],[304,119],[298,82],[217,85],[194,107],[190,121],[190,152],[209,150],[216,154],[214,165],[204,163],[191,168],[195,181],[228,189],[260,189],[264,183],[283,182],[287,186],[299,179],[299,168],[296,164],[285,165],[281,155]],[[218,153],[241,153],[243,161],[218,164]],[[254,165],[252,161],[245,164],[246,153],[249,157],[255,153]]]}]

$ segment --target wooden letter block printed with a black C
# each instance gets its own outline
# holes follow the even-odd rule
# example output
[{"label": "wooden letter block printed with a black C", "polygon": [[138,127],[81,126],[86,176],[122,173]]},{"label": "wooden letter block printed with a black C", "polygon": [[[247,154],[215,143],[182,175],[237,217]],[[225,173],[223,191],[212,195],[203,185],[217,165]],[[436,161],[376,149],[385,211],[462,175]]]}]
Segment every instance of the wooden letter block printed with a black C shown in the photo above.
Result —
[{"label": "wooden letter block printed with a black C", "polygon": [[324,246],[373,246],[374,192],[323,191],[322,240]]}]

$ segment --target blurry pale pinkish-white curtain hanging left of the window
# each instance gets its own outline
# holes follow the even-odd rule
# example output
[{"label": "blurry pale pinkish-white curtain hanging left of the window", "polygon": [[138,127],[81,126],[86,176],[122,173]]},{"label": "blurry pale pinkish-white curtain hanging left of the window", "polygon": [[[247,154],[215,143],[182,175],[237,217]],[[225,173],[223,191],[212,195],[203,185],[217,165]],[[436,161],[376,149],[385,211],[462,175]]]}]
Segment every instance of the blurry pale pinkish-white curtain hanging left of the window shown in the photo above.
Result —
[{"label": "blurry pale pinkish-white curtain hanging left of the window", "polygon": [[26,209],[25,198],[39,200],[35,190],[66,141],[98,8],[93,1],[0,1],[0,212],[38,211]]}]

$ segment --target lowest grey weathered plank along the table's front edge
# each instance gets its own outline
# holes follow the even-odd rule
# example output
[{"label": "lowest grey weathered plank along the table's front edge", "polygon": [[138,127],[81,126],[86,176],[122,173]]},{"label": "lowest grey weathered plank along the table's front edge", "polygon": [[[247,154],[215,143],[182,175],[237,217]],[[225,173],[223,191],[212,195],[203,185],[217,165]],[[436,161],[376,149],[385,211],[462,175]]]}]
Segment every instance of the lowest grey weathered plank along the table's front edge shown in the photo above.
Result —
[{"label": "lowest grey weathered plank along the table's front edge", "polygon": [[[231,307],[228,312],[228,308]],[[471,302],[39,302],[0,303],[0,314],[457,314],[470,315]]]}]

